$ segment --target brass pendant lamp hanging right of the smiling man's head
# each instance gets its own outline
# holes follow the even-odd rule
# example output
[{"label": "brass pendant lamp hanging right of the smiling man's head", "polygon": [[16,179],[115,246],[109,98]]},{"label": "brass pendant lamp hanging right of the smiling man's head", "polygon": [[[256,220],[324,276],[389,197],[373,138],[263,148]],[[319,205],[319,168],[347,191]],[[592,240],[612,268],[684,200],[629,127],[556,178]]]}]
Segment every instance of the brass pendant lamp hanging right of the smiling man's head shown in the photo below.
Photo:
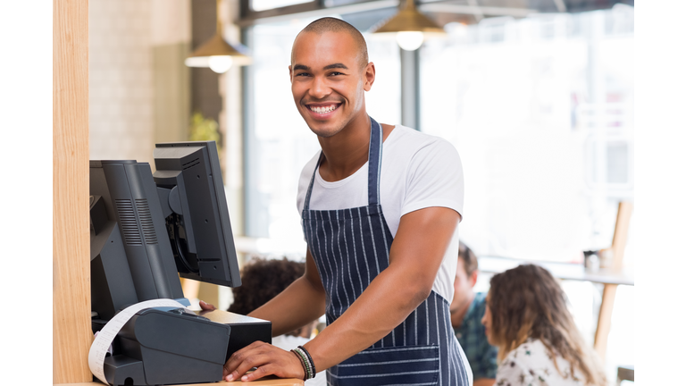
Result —
[{"label": "brass pendant lamp hanging right of the smiling man's head", "polygon": [[414,0],[406,0],[405,6],[395,16],[372,27],[372,33],[396,33],[397,44],[406,51],[422,46],[429,36],[445,35],[435,21],[417,11]]}]

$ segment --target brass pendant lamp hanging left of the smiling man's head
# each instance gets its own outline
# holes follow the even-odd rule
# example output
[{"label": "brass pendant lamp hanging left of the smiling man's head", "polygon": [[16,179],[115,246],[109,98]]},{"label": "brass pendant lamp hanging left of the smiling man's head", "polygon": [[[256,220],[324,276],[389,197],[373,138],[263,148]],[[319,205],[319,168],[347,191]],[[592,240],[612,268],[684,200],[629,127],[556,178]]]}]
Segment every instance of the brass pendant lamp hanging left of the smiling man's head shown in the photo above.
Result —
[{"label": "brass pendant lamp hanging left of the smiling man's head", "polygon": [[224,73],[229,71],[231,65],[246,65],[251,62],[246,46],[231,45],[222,36],[221,1],[217,0],[217,30],[212,38],[188,55],[184,62],[188,67],[209,67],[214,72]]}]

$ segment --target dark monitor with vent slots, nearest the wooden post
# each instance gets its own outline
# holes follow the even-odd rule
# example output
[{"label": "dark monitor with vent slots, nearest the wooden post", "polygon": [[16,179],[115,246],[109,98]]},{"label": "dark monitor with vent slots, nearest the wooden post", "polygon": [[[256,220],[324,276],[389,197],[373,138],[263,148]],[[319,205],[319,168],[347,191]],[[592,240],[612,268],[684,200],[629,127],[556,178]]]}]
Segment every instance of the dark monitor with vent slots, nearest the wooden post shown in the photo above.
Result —
[{"label": "dark monitor with vent slots, nearest the wooden post", "polygon": [[90,197],[91,299],[99,317],[145,300],[183,299],[150,165],[90,161]]}]

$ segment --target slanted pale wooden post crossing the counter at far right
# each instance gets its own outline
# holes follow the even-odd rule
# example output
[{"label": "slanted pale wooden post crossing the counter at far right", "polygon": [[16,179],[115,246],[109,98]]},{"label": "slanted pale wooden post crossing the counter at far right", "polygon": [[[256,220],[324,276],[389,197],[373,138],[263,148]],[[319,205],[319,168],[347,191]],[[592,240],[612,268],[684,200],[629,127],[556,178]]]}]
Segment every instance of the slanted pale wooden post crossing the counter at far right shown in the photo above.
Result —
[{"label": "slanted pale wooden post crossing the counter at far right", "polygon": [[[626,240],[629,237],[629,221],[632,218],[633,204],[630,202],[619,203],[617,209],[617,220],[615,222],[615,236],[612,239],[612,265],[611,269],[614,272],[622,271],[622,263],[624,258],[624,248],[626,248]],[[607,336],[610,333],[610,324],[612,322],[612,310],[615,306],[615,295],[617,293],[616,284],[605,284],[603,289],[603,298],[600,303],[600,312],[598,313],[598,327],[596,328],[596,337],[594,348],[598,352],[598,356],[605,359],[607,351]]]}]

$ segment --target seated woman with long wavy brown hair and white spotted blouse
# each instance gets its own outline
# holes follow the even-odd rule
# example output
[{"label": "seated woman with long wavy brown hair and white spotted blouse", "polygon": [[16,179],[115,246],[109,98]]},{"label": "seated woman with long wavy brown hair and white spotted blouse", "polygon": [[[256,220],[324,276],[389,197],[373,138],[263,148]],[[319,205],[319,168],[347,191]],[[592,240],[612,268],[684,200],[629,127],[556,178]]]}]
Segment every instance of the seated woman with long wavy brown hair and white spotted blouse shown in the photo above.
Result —
[{"label": "seated woman with long wavy brown hair and white spotted blouse", "polygon": [[498,347],[496,385],[607,385],[555,278],[523,264],[490,279],[481,323]]}]

